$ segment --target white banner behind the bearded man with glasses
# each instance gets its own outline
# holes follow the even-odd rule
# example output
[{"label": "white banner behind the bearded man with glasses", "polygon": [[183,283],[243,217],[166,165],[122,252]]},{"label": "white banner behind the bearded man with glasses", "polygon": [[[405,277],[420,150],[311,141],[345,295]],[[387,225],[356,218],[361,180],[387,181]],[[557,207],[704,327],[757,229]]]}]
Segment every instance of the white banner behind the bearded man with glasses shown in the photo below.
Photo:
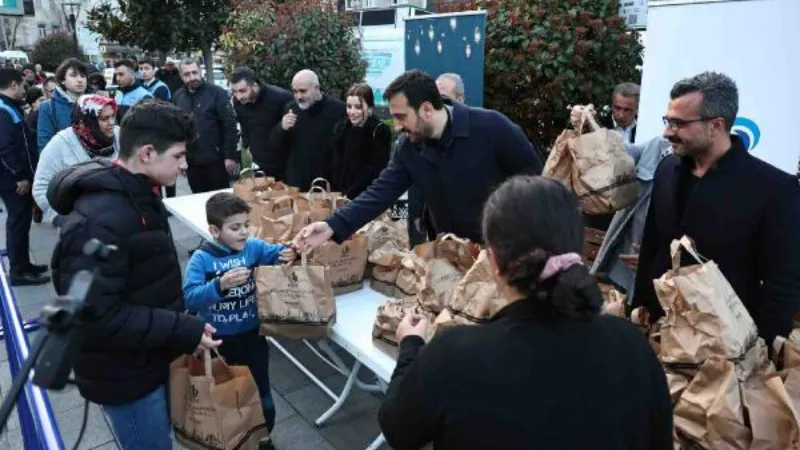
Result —
[{"label": "white banner behind the bearded man with glasses", "polygon": [[638,142],[664,131],[675,82],[706,70],[739,87],[734,131],[753,155],[797,173],[800,0],[650,1]]}]

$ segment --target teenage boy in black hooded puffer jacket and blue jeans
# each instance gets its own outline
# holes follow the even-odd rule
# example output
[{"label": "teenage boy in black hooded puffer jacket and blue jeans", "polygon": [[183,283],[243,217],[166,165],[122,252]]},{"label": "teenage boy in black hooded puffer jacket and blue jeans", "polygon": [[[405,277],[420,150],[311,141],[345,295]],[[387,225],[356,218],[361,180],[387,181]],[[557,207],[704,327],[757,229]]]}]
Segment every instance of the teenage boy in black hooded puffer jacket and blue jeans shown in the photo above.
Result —
[{"label": "teenage boy in black hooded puffer jacket and blue jeans", "polygon": [[[81,395],[103,406],[124,449],[171,449],[166,383],[175,358],[215,348],[213,328],[184,314],[181,267],[166,210],[154,186],[186,167],[190,115],[145,102],[128,111],[120,159],[72,166],[47,197],[65,216],[53,251],[56,291],[80,270],[96,270],[86,299],[87,336],[75,361]],[[103,261],[83,253],[90,239],[116,250]]]}]

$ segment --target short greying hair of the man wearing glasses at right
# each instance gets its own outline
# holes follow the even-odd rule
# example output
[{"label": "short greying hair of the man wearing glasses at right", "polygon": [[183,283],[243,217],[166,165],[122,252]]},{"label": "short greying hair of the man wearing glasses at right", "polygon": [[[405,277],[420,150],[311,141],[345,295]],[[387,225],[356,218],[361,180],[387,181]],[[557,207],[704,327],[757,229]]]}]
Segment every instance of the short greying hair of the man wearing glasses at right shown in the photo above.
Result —
[{"label": "short greying hair of the man wearing glasses at right", "polygon": [[739,89],[736,83],[725,74],[703,72],[675,83],[669,96],[675,100],[695,92],[703,96],[700,115],[709,119],[722,117],[730,131],[739,113]]}]

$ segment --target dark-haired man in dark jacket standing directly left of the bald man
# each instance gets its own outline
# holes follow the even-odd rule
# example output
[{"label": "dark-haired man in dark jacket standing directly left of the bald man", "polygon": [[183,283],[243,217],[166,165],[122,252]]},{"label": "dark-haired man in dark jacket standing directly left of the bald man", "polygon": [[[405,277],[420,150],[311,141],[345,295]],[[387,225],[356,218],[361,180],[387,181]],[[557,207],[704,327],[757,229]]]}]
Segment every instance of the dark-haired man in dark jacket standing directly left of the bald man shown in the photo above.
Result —
[{"label": "dark-haired man in dark jacket standing directly left of the bald man", "polygon": [[277,149],[270,147],[269,134],[281,122],[292,93],[259,81],[249,67],[239,67],[230,76],[233,109],[242,130],[244,148],[266,175],[283,179],[283,163]]}]

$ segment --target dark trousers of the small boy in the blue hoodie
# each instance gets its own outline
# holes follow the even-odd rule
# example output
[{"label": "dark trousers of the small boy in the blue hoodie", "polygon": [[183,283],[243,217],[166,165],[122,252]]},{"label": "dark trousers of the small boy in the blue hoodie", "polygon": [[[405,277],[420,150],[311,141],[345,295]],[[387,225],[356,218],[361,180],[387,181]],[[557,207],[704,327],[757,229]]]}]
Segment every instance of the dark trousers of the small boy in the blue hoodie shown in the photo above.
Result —
[{"label": "dark trousers of the small boy in the blue hoodie", "polygon": [[247,366],[258,386],[261,396],[261,407],[264,409],[264,418],[267,429],[272,433],[275,427],[275,402],[272,400],[272,391],[269,387],[269,344],[263,336],[258,335],[258,328],[233,336],[217,336],[222,339],[219,354],[225,358],[228,365]]}]

